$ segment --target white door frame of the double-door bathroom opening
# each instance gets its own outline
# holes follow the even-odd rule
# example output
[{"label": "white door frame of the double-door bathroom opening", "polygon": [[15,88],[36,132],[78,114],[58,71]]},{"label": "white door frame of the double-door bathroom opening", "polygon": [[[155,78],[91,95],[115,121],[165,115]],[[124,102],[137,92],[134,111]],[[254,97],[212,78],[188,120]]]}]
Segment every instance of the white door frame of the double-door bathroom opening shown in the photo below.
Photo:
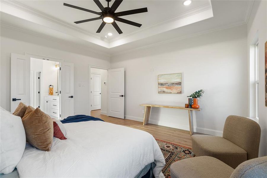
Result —
[{"label": "white door frame of the double-door bathroom opening", "polygon": [[[54,57],[49,57],[49,56],[44,56],[44,55],[38,55],[38,54],[33,54],[33,53],[27,53],[27,52],[25,52],[25,56],[29,56],[30,58],[59,62],[59,66],[61,66],[61,62],[64,62],[64,59],[59,59],[59,58],[54,58]],[[42,81],[42,77],[41,77],[41,81]],[[61,71],[59,71],[59,83],[60,83],[59,90],[61,90]],[[59,97],[59,114],[61,115],[61,96],[60,96],[60,93],[58,94],[58,97]],[[61,117],[59,118],[59,120],[60,119],[61,119]]]}]

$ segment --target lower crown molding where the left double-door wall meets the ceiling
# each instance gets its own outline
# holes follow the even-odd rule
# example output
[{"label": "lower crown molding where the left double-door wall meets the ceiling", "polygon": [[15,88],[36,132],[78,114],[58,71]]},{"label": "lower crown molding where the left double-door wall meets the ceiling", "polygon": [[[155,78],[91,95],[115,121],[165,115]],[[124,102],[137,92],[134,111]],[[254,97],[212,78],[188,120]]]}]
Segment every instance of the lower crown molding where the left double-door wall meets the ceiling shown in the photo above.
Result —
[{"label": "lower crown molding where the left double-door wall meets the ceiling", "polygon": [[55,38],[52,38],[51,36],[48,36],[48,35],[41,35],[41,34],[38,34],[36,32],[30,31],[30,30],[27,30],[27,29],[23,29],[23,28],[21,28],[19,26],[15,26],[13,24],[9,24],[9,23],[6,23],[6,22],[0,21],[0,26],[4,27],[4,28],[9,28],[9,29],[12,29],[12,30],[20,31],[20,32],[23,32],[23,33],[26,33],[26,34],[38,36],[40,38],[48,39],[48,40],[51,40],[51,41],[54,41],[54,42],[59,42],[59,43],[65,44],[65,45],[69,45],[69,46],[73,46],[73,47],[80,48],[80,49],[83,49],[83,50],[87,50],[87,51],[90,51],[92,53],[97,53],[97,54],[101,54],[101,55],[105,55],[105,56],[110,57],[110,54],[108,54],[108,53],[104,53],[102,51],[97,51],[97,50],[92,50],[92,49],[89,49],[89,47],[86,47],[86,46],[83,46],[83,45],[77,45],[75,43],[67,42],[65,40],[55,39]]}]

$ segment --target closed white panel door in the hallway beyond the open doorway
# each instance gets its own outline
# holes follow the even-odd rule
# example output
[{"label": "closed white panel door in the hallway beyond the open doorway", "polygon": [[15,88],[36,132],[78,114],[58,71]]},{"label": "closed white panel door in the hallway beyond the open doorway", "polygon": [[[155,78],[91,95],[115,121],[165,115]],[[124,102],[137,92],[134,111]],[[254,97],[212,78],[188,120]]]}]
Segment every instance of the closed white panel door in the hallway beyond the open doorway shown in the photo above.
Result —
[{"label": "closed white panel door in the hallway beyond the open doorway", "polygon": [[101,109],[101,75],[91,74],[91,110]]}]

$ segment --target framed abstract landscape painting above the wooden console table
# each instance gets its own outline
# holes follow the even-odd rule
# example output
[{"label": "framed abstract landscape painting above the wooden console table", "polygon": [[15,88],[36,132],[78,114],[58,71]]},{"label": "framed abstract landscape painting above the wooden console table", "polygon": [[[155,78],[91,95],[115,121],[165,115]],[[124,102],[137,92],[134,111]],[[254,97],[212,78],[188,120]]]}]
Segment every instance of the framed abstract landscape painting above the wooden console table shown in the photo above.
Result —
[{"label": "framed abstract landscape painting above the wooden console table", "polygon": [[182,93],[182,74],[158,75],[158,93]]}]

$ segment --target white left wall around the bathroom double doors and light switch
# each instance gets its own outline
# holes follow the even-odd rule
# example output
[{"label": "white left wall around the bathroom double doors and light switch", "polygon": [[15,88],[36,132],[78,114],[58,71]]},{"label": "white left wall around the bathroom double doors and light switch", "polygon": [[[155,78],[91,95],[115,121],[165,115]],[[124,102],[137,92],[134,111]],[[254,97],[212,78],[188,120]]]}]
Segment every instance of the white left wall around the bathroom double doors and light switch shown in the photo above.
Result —
[{"label": "white left wall around the bathroom double doors and light switch", "polygon": [[[74,112],[89,114],[89,64],[109,68],[110,57],[1,27],[1,107],[10,110],[10,53],[25,52],[74,63]],[[79,87],[79,82],[85,87]]]}]

